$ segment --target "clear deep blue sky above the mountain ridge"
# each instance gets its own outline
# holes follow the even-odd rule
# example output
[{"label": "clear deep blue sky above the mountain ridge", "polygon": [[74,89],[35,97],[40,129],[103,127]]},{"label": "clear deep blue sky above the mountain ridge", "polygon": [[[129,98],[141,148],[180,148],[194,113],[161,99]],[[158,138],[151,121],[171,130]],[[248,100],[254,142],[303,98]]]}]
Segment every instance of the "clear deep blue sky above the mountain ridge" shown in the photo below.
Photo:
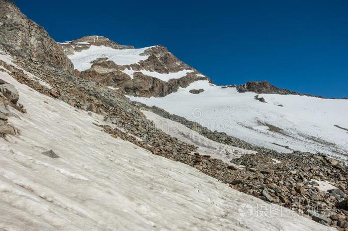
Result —
[{"label": "clear deep blue sky above the mountain ridge", "polygon": [[161,44],[216,84],[348,97],[348,0],[15,0],[56,41]]}]

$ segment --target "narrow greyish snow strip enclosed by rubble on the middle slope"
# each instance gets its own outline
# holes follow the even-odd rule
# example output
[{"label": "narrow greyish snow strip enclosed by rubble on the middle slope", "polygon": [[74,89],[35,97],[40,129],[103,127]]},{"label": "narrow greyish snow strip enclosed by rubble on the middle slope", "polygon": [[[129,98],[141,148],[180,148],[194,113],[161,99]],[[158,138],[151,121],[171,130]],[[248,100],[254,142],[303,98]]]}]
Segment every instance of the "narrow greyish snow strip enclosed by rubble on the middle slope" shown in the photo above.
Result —
[{"label": "narrow greyish snow strip enclosed by rubble on the middle slope", "polygon": [[147,119],[150,119],[155,123],[157,129],[160,129],[183,142],[197,146],[199,152],[203,155],[210,155],[211,157],[221,159],[228,164],[231,164],[230,161],[233,158],[238,158],[243,154],[257,153],[256,151],[245,150],[243,148],[215,142],[179,122],[164,118],[153,112],[142,111],[142,113]]}]

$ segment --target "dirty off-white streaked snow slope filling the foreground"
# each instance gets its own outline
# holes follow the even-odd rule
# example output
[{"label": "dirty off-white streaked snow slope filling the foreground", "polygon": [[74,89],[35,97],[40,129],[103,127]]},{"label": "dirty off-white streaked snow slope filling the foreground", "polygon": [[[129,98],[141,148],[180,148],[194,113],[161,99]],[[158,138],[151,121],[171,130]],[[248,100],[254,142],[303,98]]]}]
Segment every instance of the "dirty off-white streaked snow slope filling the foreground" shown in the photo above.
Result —
[{"label": "dirty off-white streaked snow slope filling the foreground", "polygon": [[[20,135],[0,139],[0,230],[334,230],[114,139],[93,124],[100,116],[0,78],[28,112],[11,110]],[[50,149],[60,157],[41,154]]]}]

